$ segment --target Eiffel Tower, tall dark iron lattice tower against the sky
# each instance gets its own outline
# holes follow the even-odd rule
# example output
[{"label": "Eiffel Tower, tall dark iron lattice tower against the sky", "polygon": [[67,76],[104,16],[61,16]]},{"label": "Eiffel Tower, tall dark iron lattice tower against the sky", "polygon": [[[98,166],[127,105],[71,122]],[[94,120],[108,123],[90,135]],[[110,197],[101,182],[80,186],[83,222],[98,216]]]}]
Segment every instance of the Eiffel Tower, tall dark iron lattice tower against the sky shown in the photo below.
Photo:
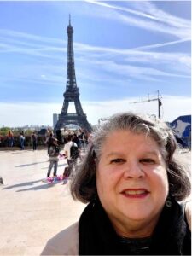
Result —
[{"label": "Eiffel Tower, tall dark iron lattice tower against the sky", "polygon": [[[61,109],[61,114],[55,125],[55,131],[66,125],[79,125],[81,128],[91,131],[90,124],[87,121],[87,116],[81,107],[79,100],[79,87],[77,87],[75,68],[74,68],[74,53],[73,53],[73,26],[71,26],[71,17],[69,15],[69,25],[67,26],[68,45],[67,45],[67,85],[66,91],[63,94],[64,102]],[[74,102],[76,113],[67,113],[69,102]]]}]

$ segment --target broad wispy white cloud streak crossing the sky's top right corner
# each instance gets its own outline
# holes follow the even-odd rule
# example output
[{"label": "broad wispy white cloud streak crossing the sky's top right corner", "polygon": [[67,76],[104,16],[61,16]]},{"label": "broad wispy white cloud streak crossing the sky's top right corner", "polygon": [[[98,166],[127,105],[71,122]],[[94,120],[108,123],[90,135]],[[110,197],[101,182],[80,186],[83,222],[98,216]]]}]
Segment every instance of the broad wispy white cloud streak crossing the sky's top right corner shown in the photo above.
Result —
[{"label": "broad wispy white cloud streak crossing the sky's top right corner", "polygon": [[[154,32],[171,34],[177,38],[188,38],[190,35],[190,20],[185,20],[177,16],[170,15],[161,9],[157,9],[154,3],[148,1],[135,5],[137,9],[130,9],[118,5],[118,2],[107,2],[87,0],[87,3],[100,6],[90,15],[102,16],[105,19],[119,20],[127,25],[142,27]],[[134,1],[137,2],[137,1]],[[108,9],[108,12],[101,11]]]}]

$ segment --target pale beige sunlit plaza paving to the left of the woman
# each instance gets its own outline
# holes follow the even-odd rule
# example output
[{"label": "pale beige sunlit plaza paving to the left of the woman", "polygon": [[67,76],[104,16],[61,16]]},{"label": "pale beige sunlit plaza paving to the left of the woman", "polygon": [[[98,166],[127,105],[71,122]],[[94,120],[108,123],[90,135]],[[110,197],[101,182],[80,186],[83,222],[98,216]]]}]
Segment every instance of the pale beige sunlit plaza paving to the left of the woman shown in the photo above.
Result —
[{"label": "pale beige sunlit plaza paving to the left of the woman", "polygon": [[[66,160],[60,160],[62,174]],[[68,183],[47,184],[47,150],[0,151],[0,255],[39,255],[46,241],[79,219]]]}]

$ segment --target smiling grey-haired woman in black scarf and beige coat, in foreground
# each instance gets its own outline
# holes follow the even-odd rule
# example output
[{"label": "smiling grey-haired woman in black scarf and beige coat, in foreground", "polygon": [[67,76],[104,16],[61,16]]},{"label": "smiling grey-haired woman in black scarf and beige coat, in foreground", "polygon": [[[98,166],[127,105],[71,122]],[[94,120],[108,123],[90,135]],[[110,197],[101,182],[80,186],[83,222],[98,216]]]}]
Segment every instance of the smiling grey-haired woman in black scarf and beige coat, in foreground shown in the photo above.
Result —
[{"label": "smiling grey-haired woman in black scarf and beige coat, in foreground", "polygon": [[[135,113],[108,119],[71,184],[79,222],[48,241],[48,255],[188,255],[189,175],[172,131]],[[188,218],[188,221],[187,221]]]}]

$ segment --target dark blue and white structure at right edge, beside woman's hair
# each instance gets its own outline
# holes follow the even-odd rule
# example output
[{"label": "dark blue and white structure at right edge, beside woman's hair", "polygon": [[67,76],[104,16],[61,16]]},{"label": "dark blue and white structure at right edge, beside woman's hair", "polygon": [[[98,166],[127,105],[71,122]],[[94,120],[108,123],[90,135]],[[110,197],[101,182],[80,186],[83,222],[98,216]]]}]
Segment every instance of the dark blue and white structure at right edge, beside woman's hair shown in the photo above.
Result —
[{"label": "dark blue and white structure at right edge, beside woman's hair", "polygon": [[191,147],[191,115],[182,115],[169,123],[178,138]]}]

